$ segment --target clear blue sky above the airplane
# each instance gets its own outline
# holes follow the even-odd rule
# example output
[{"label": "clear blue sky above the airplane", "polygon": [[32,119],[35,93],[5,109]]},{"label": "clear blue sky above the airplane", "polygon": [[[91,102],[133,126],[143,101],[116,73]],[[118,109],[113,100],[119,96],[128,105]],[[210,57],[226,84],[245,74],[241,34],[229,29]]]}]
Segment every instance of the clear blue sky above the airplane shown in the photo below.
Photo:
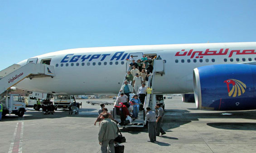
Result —
[{"label": "clear blue sky above the airplane", "polygon": [[0,0],[0,70],[70,48],[256,41],[256,0]]}]

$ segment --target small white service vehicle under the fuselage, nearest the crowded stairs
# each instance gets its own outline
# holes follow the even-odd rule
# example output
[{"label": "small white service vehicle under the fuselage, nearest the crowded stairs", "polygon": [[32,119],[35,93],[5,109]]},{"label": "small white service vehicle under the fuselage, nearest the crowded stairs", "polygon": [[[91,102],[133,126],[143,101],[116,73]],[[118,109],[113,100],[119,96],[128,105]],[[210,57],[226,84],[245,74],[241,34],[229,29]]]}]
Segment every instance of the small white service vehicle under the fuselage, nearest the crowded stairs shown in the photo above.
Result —
[{"label": "small white service vehicle under the fuselage, nearest the crowded stairs", "polygon": [[73,96],[71,95],[55,95],[53,105],[55,110],[57,108],[69,108],[73,101]]}]

